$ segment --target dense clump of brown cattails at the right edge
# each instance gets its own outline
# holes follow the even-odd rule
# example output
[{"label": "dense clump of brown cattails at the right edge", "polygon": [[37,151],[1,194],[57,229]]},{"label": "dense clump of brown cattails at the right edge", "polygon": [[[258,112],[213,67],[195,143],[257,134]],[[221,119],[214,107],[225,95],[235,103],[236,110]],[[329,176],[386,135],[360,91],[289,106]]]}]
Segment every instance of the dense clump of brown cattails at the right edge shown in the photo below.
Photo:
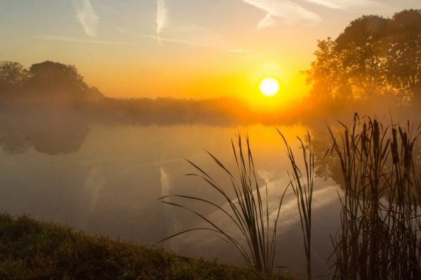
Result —
[{"label": "dense clump of brown cattails at the right edge", "polygon": [[358,115],[342,127],[339,138],[329,128],[345,192],[334,279],[421,279],[419,133]]}]

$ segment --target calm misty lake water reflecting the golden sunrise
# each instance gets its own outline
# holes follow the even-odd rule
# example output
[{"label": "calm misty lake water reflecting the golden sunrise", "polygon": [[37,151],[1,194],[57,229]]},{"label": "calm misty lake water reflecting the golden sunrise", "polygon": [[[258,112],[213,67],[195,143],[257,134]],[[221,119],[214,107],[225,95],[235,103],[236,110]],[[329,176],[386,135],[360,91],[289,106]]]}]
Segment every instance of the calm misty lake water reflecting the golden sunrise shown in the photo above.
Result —
[{"label": "calm misty lake water reflecting the golden sunrise", "polygon": [[[223,202],[201,180],[185,175],[194,172],[185,159],[227,185],[226,175],[206,150],[233,168],[230,139],[238,132],[250,135],[258,177],[261,185],[268,187],[273,215],[288,184],[286,149],[273,126],[85,126],[74,121],[63,125],[54,120],[33,124],[16,121],[5,126],[1,134],[0,211],[29,213],[89,234],[119,237],[146,246],[203,224],[193,214],[157,201],[160,196],[188,194]],[[307,128],[278,128],[299,153],[295,135],[304,135]],[[199,208],[221,227],[232,229],[218,211]],[[312,256],[315,276],[325,272],[326,259],[332,252],[329,234],[338,229],[339,212],[333,182],[316,180]],[[291,189],[281,210],[278,231],[276,265],[304,272],[300,220]],[[208,232],[185,234],[166,241],[163,247],[208,260],[242,262],[234,249]]]}]

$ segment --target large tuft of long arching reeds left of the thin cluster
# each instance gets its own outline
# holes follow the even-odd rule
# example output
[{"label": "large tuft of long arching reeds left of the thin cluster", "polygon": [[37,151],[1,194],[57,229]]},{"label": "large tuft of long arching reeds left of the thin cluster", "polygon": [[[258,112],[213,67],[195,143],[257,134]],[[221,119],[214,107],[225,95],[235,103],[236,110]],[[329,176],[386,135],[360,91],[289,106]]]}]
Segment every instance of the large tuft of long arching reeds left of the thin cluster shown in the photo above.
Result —
[{"label": "large tuft of long arching reeds left of the thin cluster", "polygon": [[[208,227],[194,227],[192,229],[178,232],[168,236],[166,239],[162,239],[161,241],[165,241],[194,230],[209,230],[216,232],[222,239],[227,241],[229,244],[232,244],[232,246],[239,251],[248,267],[253,267],[258,271],[272,273],[275,257],[276,225],[279,220],[283,196],[285,196],[287,188],[281,195],[279,206],[276,209],[276,218],[273,221],[270,221],[271,218],[269,216],[271,212],[269,211],[268,205],[269,197],[267,194],[267,187],[265,187],[262,191],[258,185],[248,137],[246,137],[246,150],[243,149],[242,138],[241,135],[239,135],[236,147],[232,141],[232,151],[234,153],[234,159],[237,167],[235,175],[215,156],[213,156],[213,154],[208,152],[213,161],[215,161],[215,163],[222,168],[222,171],[224,171],[224,173],[229,177],[229,180],[231,181],[231,189],[235,194],[232,198],[229,197],[227,189],[218,185],[218,182],[211,178],[210,175],[203,171],[199,166],[196,166],[196,164],[187,160],[190,164],[192,164],[196,171],[198,171],[198,173],[188,175],[196,176],[206,181],[207,185],[211,189],[214,189],[215,192],[225,199],[228,207],[220,206],[215,204],[213,201],[196,196],[175,194],[161,197],[159,200],[163,203],[186,209],[199,216],[208,225]],[[228,234],[227,229],[222,229],[216,222],[209,220],[205,215],[199,213],[199,211],[196,211],[189,206],[185,206],[185,204],[177,204],[168,201],[168,198],[170,197],[186,199],[187,201],[200,201],[203,204],[216,208],[232,221],[232,225],[234,225],[241,233],[242,240],[237,240],[234,236]]]}]

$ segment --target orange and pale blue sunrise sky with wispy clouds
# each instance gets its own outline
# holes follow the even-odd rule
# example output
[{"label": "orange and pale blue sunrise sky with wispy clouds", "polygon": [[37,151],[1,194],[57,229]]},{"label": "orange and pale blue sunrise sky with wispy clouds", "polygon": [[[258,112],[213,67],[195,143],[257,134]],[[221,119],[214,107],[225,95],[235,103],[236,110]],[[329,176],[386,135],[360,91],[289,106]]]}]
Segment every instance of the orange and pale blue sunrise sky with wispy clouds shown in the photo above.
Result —
[{"label": "orange and pale blue sunrise sky with wispy clouds", "polygon": [[253,98],[265,76],[308,91],[318,39],[420,0],[0,0],[0,60],[75,65],[116,98]]}]

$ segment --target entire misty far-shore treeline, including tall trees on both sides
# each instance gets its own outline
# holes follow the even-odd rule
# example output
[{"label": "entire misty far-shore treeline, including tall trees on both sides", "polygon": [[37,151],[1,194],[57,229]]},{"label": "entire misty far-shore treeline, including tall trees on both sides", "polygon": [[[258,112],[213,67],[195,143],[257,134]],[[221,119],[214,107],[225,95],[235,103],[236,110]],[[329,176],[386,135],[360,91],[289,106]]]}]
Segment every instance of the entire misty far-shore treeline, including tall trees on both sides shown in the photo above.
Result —
[{"label": "entire misty far-shore treeline, including tall trees on both sides", "polygon": [[420,105],[421,10],[401,11],[392,18],[364,15],[335,40],[319,41],[315,55],[305,71],[312,85],[309,98],[282,106],[282,111],[239,98],[107,98],[88,86],[73,65],[51,61],[29,69],[18,62],[0,62],[0,109],[70,108],[83,111],[89,121],[231,125],[311,122],[352,112],[382,114],[389,107],[406,114]]}]

